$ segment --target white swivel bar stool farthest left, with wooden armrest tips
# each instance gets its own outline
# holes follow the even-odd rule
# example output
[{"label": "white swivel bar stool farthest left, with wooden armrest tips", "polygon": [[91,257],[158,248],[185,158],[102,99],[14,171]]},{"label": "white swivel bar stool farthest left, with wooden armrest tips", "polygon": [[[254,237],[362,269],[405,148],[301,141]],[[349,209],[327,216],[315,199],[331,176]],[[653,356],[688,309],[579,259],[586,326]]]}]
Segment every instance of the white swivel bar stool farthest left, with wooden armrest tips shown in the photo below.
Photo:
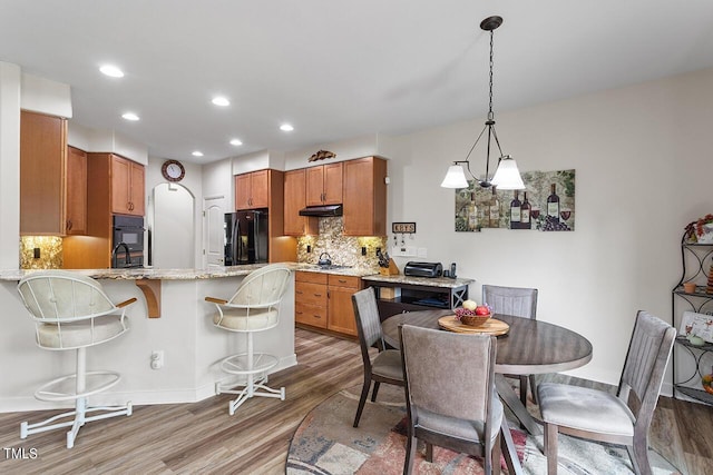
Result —
[{"label": "white swivel bar stool farthest left, with wooden armrest tips", "polygon": [[[88,405],[89,396],[109,389],[121,377],[118,373],[107,370],[87,372],[87,348],[107,343],[128,330],[126,306],[136,301],[136,298],[114,305],[98,281],[65,270],[32,273],[20,280],[18,291],[35,320],[37,345],[49,350],[77,350],[75,374],[52,379],[35,392],[39,400],[56,403],[74,399],[75,410],[36,424],[21,423],[20,438],[71,426],[67,433],[67,448],[71,448],[86,423],[130,416],[130,402],[124,406]],[[101,413],[87,416],[97,410]],[[72,419],[59,422],[67,417]]]}]

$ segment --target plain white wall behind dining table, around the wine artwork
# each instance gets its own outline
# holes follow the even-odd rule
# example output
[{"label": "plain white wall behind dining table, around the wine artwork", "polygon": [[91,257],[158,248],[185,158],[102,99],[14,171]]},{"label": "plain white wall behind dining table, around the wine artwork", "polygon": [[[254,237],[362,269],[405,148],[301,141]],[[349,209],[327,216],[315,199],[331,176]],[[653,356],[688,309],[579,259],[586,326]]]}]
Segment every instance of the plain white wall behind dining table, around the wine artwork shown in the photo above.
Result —
[{"label": "plain white wall behind dining table, around the wine artwork", "polygon": [[458,263],[477,298],[485,283],[537,287],[538,318],[594,346],[574,374],[616,384],[636,310],[671,318],[683,228],[713,209],[712,83],[710,69],[496,116],[520,169],[576,169],[574,232],[453,230],[455,191],[439,185],[482,120],[394,138],[389,219],[417,221],[414,245]]}]

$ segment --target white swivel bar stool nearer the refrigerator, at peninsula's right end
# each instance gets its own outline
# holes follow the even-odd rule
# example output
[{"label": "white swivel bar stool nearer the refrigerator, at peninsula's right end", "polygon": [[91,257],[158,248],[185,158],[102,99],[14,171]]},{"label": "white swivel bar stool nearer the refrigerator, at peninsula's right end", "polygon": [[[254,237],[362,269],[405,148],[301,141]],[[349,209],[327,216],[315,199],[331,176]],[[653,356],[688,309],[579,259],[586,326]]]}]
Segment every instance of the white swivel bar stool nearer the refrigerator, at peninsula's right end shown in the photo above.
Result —
[{"label": "white swivel bar stool nearer the refrigerator, at peninsula's right end", "polygon": [[[279,359],[274,355],[255,353],[253,334],[277,326],[280,303],[287,289],[290,269],[282,264],[272,264],[248,274],[237,287],[229,300],[206,297],[215,304],[217,313],[213,324],[227,331],[246,335],[246,350],[223,359],[221,368],[231,375],[245,378],[240,383],[216,383],[216,394],[236,394],[237,398],[228,404],[232,416],[245,400],[254,396],[275,397],[285,400],[285,388],[273,389],[267,384],[267,372],[274,368]],[[242,389],[240,388],[242,386]],[[262,390],[261,390],[262,389]]]}]

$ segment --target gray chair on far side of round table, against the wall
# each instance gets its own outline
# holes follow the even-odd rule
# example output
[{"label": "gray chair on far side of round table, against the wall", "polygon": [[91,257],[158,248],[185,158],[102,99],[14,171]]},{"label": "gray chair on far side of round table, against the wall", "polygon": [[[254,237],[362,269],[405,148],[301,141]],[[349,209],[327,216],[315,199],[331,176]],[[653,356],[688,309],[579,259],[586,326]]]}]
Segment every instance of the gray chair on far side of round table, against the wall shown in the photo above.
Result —
[{"label": "gray chair on far side of round table, against the wall", "polygon": [[[537,289],[522,287],[482,286],[482,301],[492,307],[496,314],[516,317],[537,318]],[[527,384],[529,380],[533,398],[537,402],[537,388],[533,375],[506,375],[520,380],[520,400],[527,407]]]}]

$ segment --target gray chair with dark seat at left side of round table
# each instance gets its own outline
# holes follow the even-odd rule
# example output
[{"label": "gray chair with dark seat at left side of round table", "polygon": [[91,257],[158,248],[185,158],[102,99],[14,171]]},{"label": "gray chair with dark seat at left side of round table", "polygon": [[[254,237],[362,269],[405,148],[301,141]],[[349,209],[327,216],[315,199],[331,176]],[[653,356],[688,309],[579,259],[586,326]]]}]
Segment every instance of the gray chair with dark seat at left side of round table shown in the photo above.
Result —
[{"label": "gray chair with dark seat at left side of round table", "polygon": [[[373,403],[377,400],[377,393],[379,393],[381,383],[403,386],[403,370],[399,350],[385,349],[374,289],[368,287],[352,295],[352,305],[354,306],[359,345],[361,346],[361,357],[364,365],[364,384],[361,388],[361,397],[354,416],[354,427],[359,427],[359,419],[364,410],[371,382],[374,383],[374,388],[371,393],[371,402]],[[374,346],[379,349],[379,353],[372,360],[369,348]]]}]

